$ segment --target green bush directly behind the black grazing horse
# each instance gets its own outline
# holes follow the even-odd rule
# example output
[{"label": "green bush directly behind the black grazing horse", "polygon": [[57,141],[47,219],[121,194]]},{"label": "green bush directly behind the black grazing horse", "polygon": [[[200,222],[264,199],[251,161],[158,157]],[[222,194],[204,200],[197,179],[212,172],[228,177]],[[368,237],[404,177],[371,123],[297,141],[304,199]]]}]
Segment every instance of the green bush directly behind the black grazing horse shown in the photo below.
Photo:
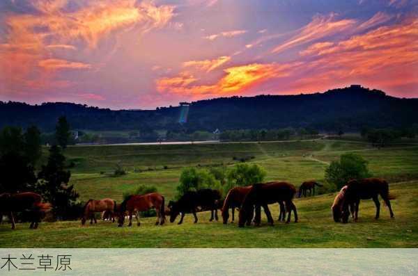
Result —
[{"label": "green bush directly behind the black grazing horse", "polygon": [[199,190],[201,188],[221,188],[219,181],[207,170],[196,170],[196,168],[185,168],[180,174],[180,184],[177,186],[178,196],[180,197],[189,190]]}]

